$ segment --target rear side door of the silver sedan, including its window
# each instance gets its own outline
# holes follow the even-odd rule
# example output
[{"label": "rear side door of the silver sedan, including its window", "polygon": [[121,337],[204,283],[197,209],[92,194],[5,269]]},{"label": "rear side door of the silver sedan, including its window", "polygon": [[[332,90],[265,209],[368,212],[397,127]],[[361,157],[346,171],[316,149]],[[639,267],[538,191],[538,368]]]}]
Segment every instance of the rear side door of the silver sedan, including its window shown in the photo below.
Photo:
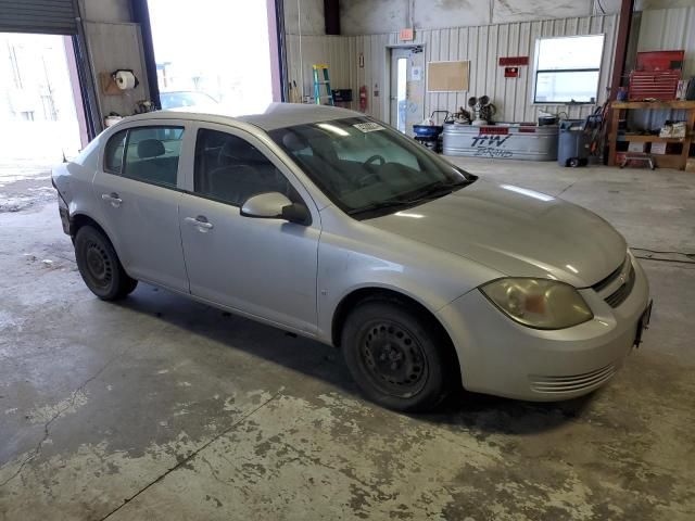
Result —
[{"label": "rear side door of the silver sedan, including its window", "polygon": [[188,292],[177,190],[185,126],[131,126],[112,135],[93,180],[101,221],[134,278]]}]

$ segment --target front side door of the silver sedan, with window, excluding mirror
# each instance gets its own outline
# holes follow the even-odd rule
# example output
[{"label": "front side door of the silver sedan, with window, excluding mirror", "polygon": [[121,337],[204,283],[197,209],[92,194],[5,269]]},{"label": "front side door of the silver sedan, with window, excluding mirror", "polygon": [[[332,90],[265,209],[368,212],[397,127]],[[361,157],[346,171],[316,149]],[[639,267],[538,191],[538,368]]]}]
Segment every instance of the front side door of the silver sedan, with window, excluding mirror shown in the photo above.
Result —
[{"label": "front side door of the silver sedan, with window, excluding mirror", "polygon": [[[257,138],[201,126],[180,227],[191,293],[275,323],[316,330],[319,215],[308,193]],[[263,192],[305,204],[309,226],[240,214]]]}]

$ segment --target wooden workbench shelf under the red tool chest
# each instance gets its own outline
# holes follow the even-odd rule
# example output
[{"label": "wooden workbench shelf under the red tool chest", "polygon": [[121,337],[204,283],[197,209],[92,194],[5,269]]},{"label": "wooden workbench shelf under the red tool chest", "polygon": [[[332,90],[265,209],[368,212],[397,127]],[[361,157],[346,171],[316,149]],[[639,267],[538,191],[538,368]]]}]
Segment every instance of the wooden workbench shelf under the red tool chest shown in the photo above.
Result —
[{"label": "wooden workbench shelf under the red tool chest", "polygon": [[653,154],[652,157],[657,166],[664,168],[685,169],[687,154],[690,153],[693,134],[695,132],[695,101],[616,101],[610,105],[610,123],[608,128],[608,165],[616,166],[617,143],[618,143],[618,122],[623,111],[629,110],[652,110],[652,111],[686,111],[685,137],[682,139],[659,138],[643,134],[627,134],[627,141],[643,143],[682,143],[683,150],[680,154]]}]

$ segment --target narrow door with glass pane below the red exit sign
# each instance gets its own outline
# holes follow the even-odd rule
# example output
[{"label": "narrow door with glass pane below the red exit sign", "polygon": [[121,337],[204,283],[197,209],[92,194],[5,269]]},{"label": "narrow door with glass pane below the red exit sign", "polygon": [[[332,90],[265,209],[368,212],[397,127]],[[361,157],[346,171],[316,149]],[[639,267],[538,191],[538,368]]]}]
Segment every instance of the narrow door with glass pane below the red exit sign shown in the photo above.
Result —
[{"label": "narrow door with glass pane below the red exit sign", "polygon": [[421,46],[391,48],[389,123],[413,134],[413,125],[425,117],[425,53]]}]

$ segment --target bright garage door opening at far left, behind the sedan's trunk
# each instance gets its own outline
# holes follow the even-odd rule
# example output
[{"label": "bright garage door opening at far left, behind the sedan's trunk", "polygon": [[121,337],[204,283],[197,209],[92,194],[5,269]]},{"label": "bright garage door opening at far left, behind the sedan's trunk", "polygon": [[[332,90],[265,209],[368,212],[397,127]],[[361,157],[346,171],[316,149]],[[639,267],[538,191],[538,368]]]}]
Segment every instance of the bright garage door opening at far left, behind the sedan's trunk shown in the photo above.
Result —
[{"label": "bright garage door opening at far left, behind the sedan's trunk", "polygon": [[53,191],[50,169],[87,143],[73,39],[0,33],[0,213]]}]

